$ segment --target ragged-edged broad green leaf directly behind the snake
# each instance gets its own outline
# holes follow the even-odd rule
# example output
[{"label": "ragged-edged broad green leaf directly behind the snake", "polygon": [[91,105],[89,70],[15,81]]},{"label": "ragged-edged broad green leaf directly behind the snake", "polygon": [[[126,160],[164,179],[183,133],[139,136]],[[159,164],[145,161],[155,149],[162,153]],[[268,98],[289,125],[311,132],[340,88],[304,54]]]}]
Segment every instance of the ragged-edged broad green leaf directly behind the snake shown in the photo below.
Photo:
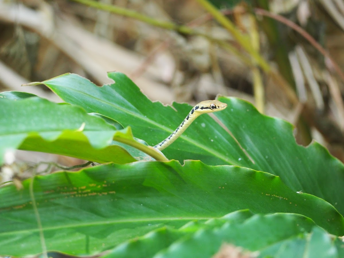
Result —
[{"label": "ragged-edged broad green leaf directly behind the snake", "polygon": [[[121,73],[109,73],[112,85],[98,87],[75,74],[42,83],[68,103],[98,112],[131,126],[133,135],[154,145],[166,138],[185,118],[191,106],[152,103]],[[292,125],[261,115],[250,103],[220,97],[228,107],[214,113],[230,133],[210,116],[202,115],[174,143],[163,150],[166,157],[182,162],[233,164],[278,176],[294,191],[303,191],[334,205],[344,214],[344,166],[320,144],[299,146]]]}]

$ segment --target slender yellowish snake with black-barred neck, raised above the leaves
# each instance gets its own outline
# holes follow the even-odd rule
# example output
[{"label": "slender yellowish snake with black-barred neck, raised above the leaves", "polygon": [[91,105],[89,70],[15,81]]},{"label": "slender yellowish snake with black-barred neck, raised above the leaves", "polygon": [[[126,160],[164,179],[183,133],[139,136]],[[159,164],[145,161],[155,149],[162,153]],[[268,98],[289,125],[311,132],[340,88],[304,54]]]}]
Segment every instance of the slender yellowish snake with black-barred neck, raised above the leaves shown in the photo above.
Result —
[{"label": "slender yellowish snake with black-barred neck, raised above the leaves", "polygon": [[189,114],[185,117],[185,119],[182,121],[182,123],[177,127],[177,129],[174,130],[173,133],[170,134],[169,137],[167,137],[162,142],[158,143],[154,146],[155,149],[163,150],[166,147],[168,147],[172,142],[174,142],[178,137],[188,128],[191,123],[200,115],[205,113],[212,113],[217,112],[225,109],[227,107],[226,103],[222,103],[218,100],[205,100],[200,103],[198,103],[196,106],[194,106]]}]

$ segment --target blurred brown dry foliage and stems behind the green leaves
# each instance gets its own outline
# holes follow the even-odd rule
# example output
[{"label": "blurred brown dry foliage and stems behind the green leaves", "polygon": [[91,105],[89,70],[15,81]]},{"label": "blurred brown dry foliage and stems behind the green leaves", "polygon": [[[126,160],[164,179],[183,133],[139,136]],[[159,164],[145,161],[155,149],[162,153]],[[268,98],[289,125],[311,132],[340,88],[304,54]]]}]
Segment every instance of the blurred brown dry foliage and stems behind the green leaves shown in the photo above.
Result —
[{"label": "blurred brown dry foliage and stems behind the green leaves", "polygon": [[72,72],[100,86],[119,71],[165,104],[246,99],[291,122],[299,144],[316,139],[344,160],[344,0],[210,1],[229,23],[203,0],[92,2],[0,0],[0,90],[60,101],[20,85]]}]

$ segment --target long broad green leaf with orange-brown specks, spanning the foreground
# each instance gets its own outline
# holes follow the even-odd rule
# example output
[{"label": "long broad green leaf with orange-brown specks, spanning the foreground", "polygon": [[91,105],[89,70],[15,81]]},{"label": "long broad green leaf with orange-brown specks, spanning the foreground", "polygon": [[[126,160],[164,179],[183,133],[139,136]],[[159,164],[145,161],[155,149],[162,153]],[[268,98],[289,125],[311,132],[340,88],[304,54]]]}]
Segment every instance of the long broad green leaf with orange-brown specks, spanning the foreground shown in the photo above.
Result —
[{"label": "long broad green leaf with orange-brown specks, spanning the foreground", "polygon": [[[23,181],[20,191],[0,189],[0,255],[41,251],[29,183]],[[302,214],[332,234],[344,233],[344,219],[329,203],[295,193],[269,173],[236,166],[105,164],[36,176],[33,189],[47,249],[74,255],[97,254],[154,229],[176,229],[247,208]]]}]

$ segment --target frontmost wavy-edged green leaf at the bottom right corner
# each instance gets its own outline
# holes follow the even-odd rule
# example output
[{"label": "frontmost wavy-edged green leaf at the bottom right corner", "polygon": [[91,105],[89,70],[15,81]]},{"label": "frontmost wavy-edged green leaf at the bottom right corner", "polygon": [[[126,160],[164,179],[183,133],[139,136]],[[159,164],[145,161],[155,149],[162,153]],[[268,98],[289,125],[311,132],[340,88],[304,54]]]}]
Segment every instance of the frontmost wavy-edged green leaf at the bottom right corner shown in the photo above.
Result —
[{"label": "frontmost wavy-edged green leaf at the bottom right corner", "polygon": [[221,252],[223,245],[259,251],[259,257],[340,257],[331,242],[330,235],[309,218],[296,214],[255,215],[244,222],[200,228],[154,257],[212,257]]}]

